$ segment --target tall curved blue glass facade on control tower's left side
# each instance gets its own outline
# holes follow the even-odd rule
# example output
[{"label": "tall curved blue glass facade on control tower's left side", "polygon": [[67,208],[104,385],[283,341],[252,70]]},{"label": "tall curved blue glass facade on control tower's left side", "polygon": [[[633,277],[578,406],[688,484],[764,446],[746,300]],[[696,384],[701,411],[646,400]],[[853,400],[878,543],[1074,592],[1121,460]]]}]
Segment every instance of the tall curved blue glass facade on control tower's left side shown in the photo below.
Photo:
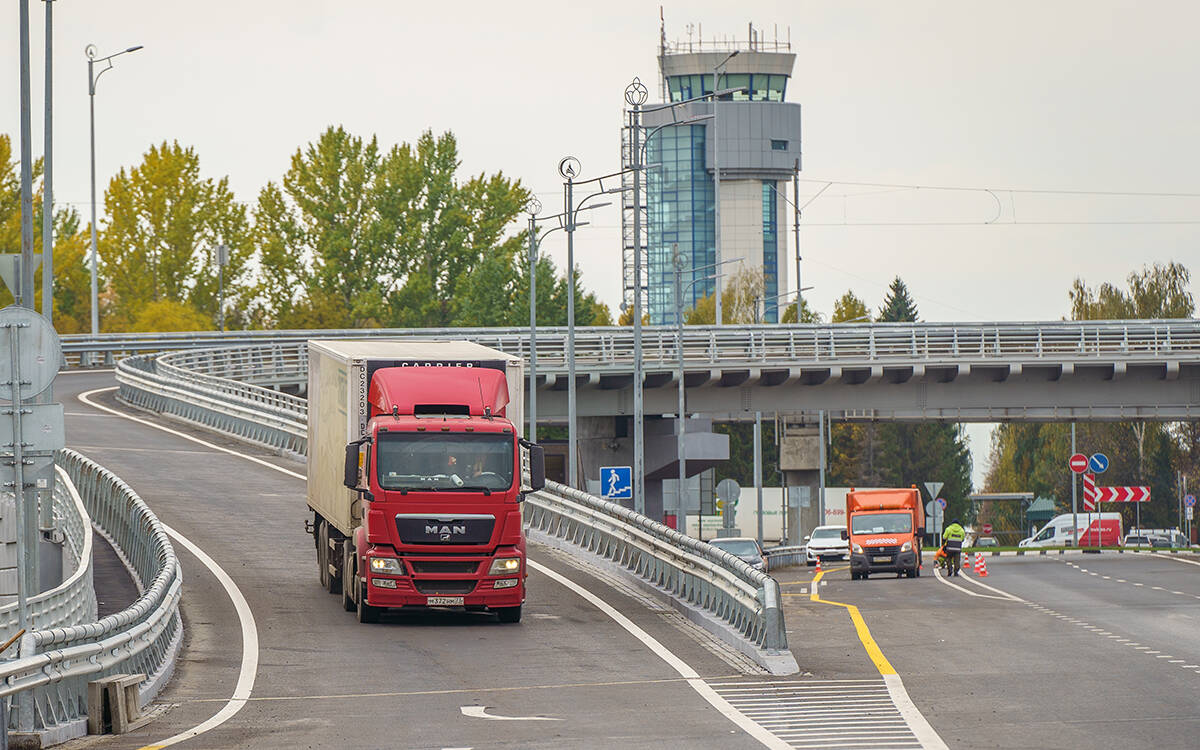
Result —
[{"label": "tall curved blue glass facade on control tower's left side", "polygon": [[[650,323],[676,322],[674,250],[683,256],[683,310],[713,293],[713,179],[704,167],[704,126],[665,127],[647,146],[647,304]],[[696,281],[695,284],[691,284]],[[689,288],[688,284],[691,284]]]}]

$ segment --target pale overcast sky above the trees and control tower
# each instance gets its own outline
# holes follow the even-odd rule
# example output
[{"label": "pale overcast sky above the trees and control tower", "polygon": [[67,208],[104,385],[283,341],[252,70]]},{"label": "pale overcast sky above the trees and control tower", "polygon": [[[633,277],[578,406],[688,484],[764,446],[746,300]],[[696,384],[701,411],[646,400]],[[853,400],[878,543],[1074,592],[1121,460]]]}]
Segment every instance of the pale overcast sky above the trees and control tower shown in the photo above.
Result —
[{"label": "pale overcast sky above the trees and control tower", "polygon": [[[16,140],[18,4],[4,6],[0,132]],[[672,41],[745,40],[748,23],[791,40],[803,281],[826,316],[847,290],[877,308],[895,276],[923,319],[986,322],[1062,318],[1076,277],[1123,283],[1170,260],[1200,274],[1195,2],[692,0],[662,12]],[[43,4],[30,13],[41,155]],[[583,179],[619,169],[629,82],[659,92],[659,6],[631,0],[59,0],[54,32],[55,198],[85,217],[89,43],[101,56],[145,47],[97,85],[100,191],[151,144],[179,140],[253,203],[298,148],[342,125],[385,145],[454,131],[463,175],[503,172],[556,208],[564,156]],[[575,242],[582,283],[616,311],[619,215],[589,221]],[[565,265],[564,242],[542,248]],[[988,431],[970,434],[978,484]]]}]

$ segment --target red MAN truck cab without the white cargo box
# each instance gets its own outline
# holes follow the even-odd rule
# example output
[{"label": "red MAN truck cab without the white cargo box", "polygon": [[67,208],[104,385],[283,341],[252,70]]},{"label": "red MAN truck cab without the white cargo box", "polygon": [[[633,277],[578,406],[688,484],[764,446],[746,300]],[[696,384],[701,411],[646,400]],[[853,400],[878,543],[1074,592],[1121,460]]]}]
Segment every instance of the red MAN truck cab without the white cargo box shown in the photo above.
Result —
[{"label": "red MAN truck cab without the white cargo box", "polygon": [[371,374],[370,421],[346,450],[346,485],[362,500],[346,600],[365,622],[412,606],[521,619],[521,456],[528,449],[530,487],[540,490],[541,449],[505,416],[503,371],[463,374],[437,367]]}]

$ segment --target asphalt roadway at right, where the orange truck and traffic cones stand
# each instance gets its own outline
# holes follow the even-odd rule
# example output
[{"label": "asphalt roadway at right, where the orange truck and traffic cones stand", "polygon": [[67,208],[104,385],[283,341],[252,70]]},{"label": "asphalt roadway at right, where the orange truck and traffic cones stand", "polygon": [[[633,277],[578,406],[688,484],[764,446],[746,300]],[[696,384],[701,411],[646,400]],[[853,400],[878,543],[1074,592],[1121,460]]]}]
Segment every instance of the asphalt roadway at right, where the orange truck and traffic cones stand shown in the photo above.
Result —
[{"label": "asphalt roadway at right, where the orange truck and traffic cones stand", "polygon": [[[920,578],[851,581],[842,565],[826,565],[820,596],[859,608],[948,746],[1200,746],[1195,556],[996,557],[986,578],[966,574],[996,590],[947,586],[929,565]],[[845,610],[811,601],[811,569],[776,577],[802,668],[877,673]]]}]

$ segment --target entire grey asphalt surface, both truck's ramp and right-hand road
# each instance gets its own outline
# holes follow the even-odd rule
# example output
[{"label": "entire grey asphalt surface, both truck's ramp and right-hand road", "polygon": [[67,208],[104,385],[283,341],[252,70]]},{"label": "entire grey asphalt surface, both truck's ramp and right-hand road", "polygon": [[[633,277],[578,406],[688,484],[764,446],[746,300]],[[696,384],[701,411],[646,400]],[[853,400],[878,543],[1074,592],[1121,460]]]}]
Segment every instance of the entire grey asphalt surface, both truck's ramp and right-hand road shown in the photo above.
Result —
[{"label": "entire grey asphalt surface, both truck's ramp and right-hand road", "polygon": [[[180,746],[763,746],[642,641],[538,571],[520,625],[455,613],[359,625],[317,583],[302,480],[76,400],[112,383],[102,373],[59,378],[68,445],[128,481],[211,556],[246,596],[258,629],[251,700]],[[97,401],[116,406],[110,392]],[[137,415],[304,472],[212,433]],[[212,574],[176,550],[186,640],[160,716],[132,736],[68,748],[152,744],[209,719],[233,694],[242,656],[238,614]],[[811,569],[781,570],[788,641],[802,667],[787,679],[754,674],[670,611],[562,553],[533,546],[530,558],[614,606],[796,748],[1200,746],[1196,558],[990,558],[984,582],[992,589],[938,581],[929,568],[916,580],[852,582],[828,565],[823,601],[811,598]],[[878,660],[847,608],[829,602],[857,607],[932,739],[899,718]],[[523,719],[468,715],[480,708]]]}]

